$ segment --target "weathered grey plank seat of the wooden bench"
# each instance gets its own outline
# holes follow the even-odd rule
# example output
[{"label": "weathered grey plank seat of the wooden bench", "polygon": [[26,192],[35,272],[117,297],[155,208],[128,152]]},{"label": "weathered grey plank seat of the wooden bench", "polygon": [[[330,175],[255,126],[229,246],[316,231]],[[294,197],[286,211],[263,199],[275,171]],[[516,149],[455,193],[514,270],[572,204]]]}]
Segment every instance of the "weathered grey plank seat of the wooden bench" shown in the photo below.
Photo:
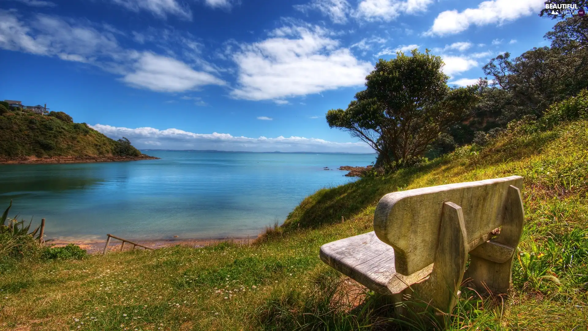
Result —
[{"label": "weathered grey plank seat of the wooden bench", "polygon": [[324,244],[319,255],[333,269],[370,290],[389,295],[425,280],[433,270],[430,264],[409,276],[397,273],[394,249],[379,240],[374,231]]}]

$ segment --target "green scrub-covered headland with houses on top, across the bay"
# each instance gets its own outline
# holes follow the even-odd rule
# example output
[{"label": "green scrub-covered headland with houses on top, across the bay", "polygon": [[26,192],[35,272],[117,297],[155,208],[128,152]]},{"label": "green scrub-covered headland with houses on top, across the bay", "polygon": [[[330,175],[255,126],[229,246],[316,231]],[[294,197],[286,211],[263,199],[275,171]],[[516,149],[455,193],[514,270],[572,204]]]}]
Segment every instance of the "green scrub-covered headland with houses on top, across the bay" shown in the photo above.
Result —
[{"label": "green scrub-covered headland with houses on top, across the bay", "polygon": [[85,123],[73,123],[68,116],[6,111],[0,115],[0,137],[0,158],[5,159],[141,155],[132,146],[128,153],[121,153],[117,141]]}]

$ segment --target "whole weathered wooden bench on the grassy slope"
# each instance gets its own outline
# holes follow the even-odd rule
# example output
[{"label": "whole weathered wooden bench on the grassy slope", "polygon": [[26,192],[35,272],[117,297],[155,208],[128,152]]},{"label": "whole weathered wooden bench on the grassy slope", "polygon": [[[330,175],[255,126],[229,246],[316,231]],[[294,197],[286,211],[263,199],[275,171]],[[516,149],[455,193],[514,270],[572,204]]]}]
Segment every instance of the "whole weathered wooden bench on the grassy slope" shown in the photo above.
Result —
[{"label": "whole weathered wooden bench on the grassy slope", "polygon": [[375,292],[445,313],[464,279],[507,293],[523,230],[522,187],[522,177],[510,176],[386,194],[375,231],[324,244],[320,259]]}]

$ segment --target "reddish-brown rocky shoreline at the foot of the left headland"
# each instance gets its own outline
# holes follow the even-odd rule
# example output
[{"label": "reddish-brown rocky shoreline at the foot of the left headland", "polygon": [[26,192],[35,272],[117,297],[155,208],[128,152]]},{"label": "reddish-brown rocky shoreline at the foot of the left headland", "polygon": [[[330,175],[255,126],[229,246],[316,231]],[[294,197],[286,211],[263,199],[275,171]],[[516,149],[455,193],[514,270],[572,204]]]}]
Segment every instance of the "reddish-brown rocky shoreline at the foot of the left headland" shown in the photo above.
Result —
[{"label": "reddish-brown rocky shoreline at the foot of the left headland", "polygon": [[98,163],[98,162],[119,162],[139,160],[159,160],[159,157],[141,155],[129,156],[62,156],[62,157],[34,157],[22,156],[16,158],[0,158],[0,164],[63,164],[63,163]]}]

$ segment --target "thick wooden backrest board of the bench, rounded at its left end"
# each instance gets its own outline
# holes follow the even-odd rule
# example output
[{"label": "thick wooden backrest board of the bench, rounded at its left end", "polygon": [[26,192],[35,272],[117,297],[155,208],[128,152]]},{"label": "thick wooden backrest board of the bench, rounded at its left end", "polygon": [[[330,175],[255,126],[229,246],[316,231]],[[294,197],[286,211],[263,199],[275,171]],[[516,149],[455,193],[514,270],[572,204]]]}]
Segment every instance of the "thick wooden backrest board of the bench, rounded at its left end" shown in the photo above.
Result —
[{"label": "thick wooden backrest board of the bench, rounded at its left end", "polygon": [[523,177],[510,176],[467,183],[416,188],[383,196],[376,207],[376,236],[394,247],[396,272],[415,273],[433,263],[443,204],[462,207],[467,241],[503,223],[509,186],[522,190]]}]

